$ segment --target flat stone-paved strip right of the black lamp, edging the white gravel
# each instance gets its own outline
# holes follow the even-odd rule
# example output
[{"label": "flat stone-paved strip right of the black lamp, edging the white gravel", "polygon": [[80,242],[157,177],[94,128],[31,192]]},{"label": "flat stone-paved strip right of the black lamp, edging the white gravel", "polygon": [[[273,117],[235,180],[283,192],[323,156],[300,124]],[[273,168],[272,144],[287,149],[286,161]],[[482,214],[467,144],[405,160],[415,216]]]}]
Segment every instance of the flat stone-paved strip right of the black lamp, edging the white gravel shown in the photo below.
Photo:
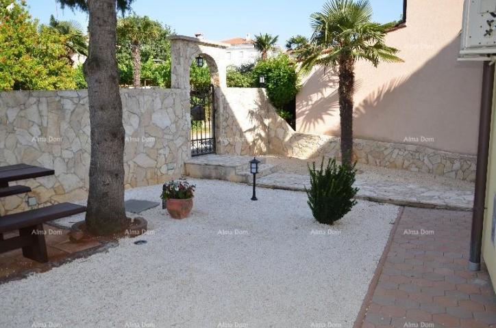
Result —
[{"label": "flat stone-paved strip right of the black lamp, edging the white gravel", "polygon": [[[310,176],[277,172],[257,180],[261,187],[304,191],[310,185]],[[397,184],[389,181],[362,181],[357,176],[355,186],[360,189],[358,199],[414,206],[423,208],[442,208],[449,210],[472,210],[473,191],[454,190],[444,186],[430,189],[418,184]]]}]

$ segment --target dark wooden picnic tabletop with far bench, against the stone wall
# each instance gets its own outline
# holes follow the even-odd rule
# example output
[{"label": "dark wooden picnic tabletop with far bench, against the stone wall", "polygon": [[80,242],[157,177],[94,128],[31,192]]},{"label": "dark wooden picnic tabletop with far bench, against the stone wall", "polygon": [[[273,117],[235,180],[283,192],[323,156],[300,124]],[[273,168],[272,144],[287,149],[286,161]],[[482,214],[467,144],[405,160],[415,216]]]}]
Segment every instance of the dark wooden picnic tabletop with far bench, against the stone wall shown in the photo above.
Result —
[{"label": "dark wooden picnic tabletop with far bench, against the stone wall", "polygon": [[20,193],[28,193],[31,188],[26,186],[9,187],[9,182],[17,180],[25,180],[32,178],[40,178],[41,176],[53,176],[53,169],[45,169],[27,164],[15,164],[0,167],[0,197],[10,195],[18,195]]}]

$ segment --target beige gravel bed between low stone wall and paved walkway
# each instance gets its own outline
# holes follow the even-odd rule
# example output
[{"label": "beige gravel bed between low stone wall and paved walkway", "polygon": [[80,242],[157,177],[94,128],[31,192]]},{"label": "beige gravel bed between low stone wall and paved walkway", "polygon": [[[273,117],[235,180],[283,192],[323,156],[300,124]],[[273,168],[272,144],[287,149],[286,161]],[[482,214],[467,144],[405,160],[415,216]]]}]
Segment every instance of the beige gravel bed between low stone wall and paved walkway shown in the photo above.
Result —
[{"label": "beige gravel bed between low stone wall and paved walkway", "polygon": [[[308,175],[307,163],[316,162],[320,166],[322,159],[296,159],[293,157],[280,157],[273,155],[264,155],[266,163],[280,165],[280,172],[293,174]],[[327,160],[326,160],[327,161]],[[327,162],[326,162],[327,163]],[[416,184],[419,187],[430,189],[430,187],[439,186],[448,189],[473,191],[473,182],[459,179],[447,178],[445,176],[436,176],[421,172],[411,172],[404,169],[388,169],[386,167],[377,167],[373,165],[356,165],[358,169],[357,180],[373,184],[376,181],[393,182],[397,184]]]}]

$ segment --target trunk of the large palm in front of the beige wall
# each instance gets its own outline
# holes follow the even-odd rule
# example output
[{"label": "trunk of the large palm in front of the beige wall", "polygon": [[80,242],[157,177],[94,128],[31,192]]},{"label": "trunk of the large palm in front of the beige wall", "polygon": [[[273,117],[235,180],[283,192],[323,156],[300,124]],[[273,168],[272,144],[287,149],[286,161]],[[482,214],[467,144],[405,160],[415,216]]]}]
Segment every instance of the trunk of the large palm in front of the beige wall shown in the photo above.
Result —
[{"label": "trunk of the large palm in front of the beige wall", "polygon": [[339,62],[339,117],[341,124],[341,156],[343,164],[351,165],[353,157],[353,94],[355,85],[354,60]]}]

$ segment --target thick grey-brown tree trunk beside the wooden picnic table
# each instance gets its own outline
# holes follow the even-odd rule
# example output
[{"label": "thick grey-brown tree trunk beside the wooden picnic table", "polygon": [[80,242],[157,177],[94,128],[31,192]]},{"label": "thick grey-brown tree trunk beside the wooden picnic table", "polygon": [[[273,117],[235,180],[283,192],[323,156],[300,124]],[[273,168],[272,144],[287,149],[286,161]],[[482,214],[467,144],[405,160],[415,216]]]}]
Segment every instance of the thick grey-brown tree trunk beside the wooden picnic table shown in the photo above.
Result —
[{"label": "thick grey-brown tree trunk beside the wooden picnic table", "polygon": [[84,63],[90,104],[91,160],[86,227],[93,234],[122,232],[124,127],[116,62],[116,1],[88,0],[90,47]]}]

